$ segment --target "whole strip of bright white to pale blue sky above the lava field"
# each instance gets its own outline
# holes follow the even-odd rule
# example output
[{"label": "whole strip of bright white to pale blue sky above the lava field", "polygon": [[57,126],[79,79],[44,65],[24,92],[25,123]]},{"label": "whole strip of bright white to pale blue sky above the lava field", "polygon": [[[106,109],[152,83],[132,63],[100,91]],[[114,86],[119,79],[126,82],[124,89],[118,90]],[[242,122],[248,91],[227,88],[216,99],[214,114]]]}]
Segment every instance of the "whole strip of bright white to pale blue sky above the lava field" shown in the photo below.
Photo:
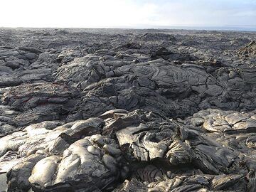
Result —
[{"label": "whole strip of bright white to pale blue sky above the lava field", "polygon": [[0,27],[256,26],[256,0],[0,0]]}]

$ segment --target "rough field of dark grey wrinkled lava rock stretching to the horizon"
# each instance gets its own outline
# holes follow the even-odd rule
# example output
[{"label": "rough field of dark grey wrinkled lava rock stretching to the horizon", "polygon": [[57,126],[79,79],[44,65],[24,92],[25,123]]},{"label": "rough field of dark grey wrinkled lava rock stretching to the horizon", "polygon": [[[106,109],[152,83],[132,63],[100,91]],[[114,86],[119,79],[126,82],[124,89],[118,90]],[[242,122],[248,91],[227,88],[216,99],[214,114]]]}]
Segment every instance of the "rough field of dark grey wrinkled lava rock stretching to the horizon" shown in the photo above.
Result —
[{"label": "rough field of dark grey wrinkled lava rock stretching to the horizon", "polygon": [[256,191],[255,39],[0,29],[0,191]]}]

